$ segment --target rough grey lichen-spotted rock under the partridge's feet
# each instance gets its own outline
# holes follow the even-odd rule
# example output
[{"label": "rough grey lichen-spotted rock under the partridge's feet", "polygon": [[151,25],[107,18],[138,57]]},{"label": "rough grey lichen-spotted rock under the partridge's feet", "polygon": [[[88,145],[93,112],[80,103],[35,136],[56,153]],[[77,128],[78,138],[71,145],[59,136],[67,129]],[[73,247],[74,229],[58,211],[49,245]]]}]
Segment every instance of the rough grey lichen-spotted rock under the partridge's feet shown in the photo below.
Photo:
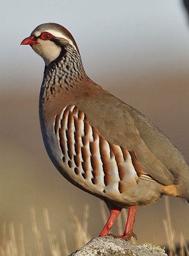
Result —
[{"label": "rough grey lichen-spotted rock under the partridge's feet", "polygon": [[123,239],[107,236],[96,237],[90,240],[84,247],[73,252],[69,256],[168,256],[163,252],[152,250],[141,245],[134,245]]}]

